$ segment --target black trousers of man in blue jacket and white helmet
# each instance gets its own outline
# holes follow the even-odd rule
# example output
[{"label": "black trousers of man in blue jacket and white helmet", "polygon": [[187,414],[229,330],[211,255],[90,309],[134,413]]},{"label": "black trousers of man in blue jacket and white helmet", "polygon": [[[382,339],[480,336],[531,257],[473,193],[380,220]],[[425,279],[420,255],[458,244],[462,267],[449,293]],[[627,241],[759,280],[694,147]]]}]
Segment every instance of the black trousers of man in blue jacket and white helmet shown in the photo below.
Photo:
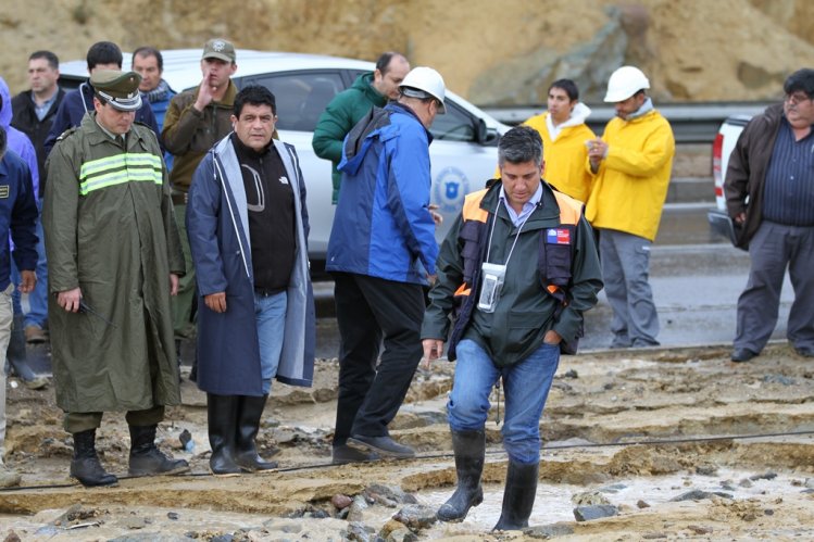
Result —
[{"label": "black trousers of man in blue jacket and white helmet", "polygon": [[348,273],[335,273],[334,280],[340,336],[337,446],[351,434],[388,434],[423,355],[425,305],[419,285]]}]

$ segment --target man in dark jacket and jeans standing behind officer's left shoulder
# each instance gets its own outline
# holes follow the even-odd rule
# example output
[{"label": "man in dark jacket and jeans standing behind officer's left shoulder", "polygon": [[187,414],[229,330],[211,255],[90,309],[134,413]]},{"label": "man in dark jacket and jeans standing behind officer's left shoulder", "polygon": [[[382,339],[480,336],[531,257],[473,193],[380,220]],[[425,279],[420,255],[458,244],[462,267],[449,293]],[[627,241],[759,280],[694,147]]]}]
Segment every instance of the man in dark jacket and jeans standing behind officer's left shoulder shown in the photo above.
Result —
[{"label": "man in dark jacket and jeans standing behind officer's left shoulder", "polygon": [[[41,210],[46,188],[46,138],[51,129],[65,91],[57,81],[60,78],[60,60],[51,51],[35,51],[28,56],[28,81],[30,89],[20,92],[12,100],[13,117],[11,125],[28,136],[37,154],[39,177],[38,202]],[[29,343],[46,341],[45,327],[48,319],[48,264],[42,236],[42,223],[37,218],[37,277],[34,291],[28,295],[30,311],[24,316],[25,340]],[[16,306],[16,304],[15,304]],[[15,341],[16,342],[16,341]],[[20,349],[17,349],[20,350]],[[25,352],[23,348],[21,354]]]}]

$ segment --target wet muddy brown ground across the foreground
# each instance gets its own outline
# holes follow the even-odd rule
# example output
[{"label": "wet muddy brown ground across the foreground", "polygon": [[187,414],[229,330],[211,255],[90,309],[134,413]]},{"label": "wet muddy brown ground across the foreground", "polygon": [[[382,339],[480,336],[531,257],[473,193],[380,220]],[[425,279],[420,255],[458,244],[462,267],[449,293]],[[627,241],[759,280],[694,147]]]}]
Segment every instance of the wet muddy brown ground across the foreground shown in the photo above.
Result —
[{"label": "wet muddy brown ground across the foreground", "polygon": [[[312,389],[275,383],[259,441],[278,471],[209,475],[205,398],[185,377],[184,404],[170,409],[159,437],[192,474],[127,479],[127,427],[109,414],[98,444],[122,480],[104,489],[67,477],[72,441],[52,390],[12,387],[7,463],[23,487],[0,491],[0,540],[811,540],[814,361],[785,343],[749,364],[728,354],[721,346],[564,357],[541,420],[547,449],[525,533],[489,532],[506,461],[494,401],[484,504],[461,524],[411,524],[414,532],[391,520],[411,502],[434,508],[452,491],[450,363],[416,375],[392,424],[415,459],[330,465],[337,363],[323,360]],[[181,449],[184,430],[191,452]],[[610,504],[617,515],[577,522],[578,504]]]}]

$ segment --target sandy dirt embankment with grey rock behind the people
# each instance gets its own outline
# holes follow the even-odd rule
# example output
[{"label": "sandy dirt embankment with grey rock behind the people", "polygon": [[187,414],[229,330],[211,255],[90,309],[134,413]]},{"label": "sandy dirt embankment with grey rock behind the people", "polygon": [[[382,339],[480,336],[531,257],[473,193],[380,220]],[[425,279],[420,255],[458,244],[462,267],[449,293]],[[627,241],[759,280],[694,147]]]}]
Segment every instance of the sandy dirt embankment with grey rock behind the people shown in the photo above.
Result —
[{"label": "sandy dirt embankment with grey rock behind the people", "polygon": [[[28,54],[83,59],[95,41],[199,48],[214,36],[239,47],[375,59],[405,52],[480,103],[544,93],[552,77],[577,77],[589,100],[606,73],[636,63],[659,100],[760,100],[814,59],[807,0],[30,0],[0,14],[0,75],[25,88]],[[602,37],[613,47],[586,47]],[[617,51],[610,54],[610,49]],[[239,59],[238,59],[239,63]],[[501,66],[515,65],[503,74]],[[581,66],[581,67],[580,67]],[[588,66],[588,67],[585,67]],[[499,75],[500,74],[500,75]],[[499,87],[483,92],[489,78]],[[593,80],[593,79],[598,80]],[[487,87],[489,85],[486,85]],[[500,87],[503,87],[501,89]],[[525,101],[525,103],[528,103]]]}]

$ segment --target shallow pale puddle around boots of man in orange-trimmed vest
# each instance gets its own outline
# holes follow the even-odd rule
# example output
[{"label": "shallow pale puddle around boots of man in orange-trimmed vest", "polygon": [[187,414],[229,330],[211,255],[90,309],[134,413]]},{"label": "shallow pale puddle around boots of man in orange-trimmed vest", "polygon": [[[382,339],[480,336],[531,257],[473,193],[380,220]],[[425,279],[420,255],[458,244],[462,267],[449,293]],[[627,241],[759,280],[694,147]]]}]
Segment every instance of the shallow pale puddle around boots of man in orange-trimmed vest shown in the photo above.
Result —
[{"label": "shallow pale puddle around boots of man in orange-trimmed vest", "polygon": [[[637,502],[640,500],[650,506],[658,506],[691,490],[723,492],[732,495],[735,500],[746,500],[762,494],[781,497],[786,494],[799,493],[803,489],[791,483],[792,480],[800,480],[799,477],[794,478],[781,474],[778,474],[772,480],[750,480],[751,487],[739,486],[741,480],[748,479],[754,474],[754,471],[718,469],[715,476],[677,474],[663,477],[616,479],[603,486],[593,487],[551,484],[540,481],[537,486],[537,497],[531,509],[529,525],[539,526],[556,521],[574,521],[574,508],[577,505],[572,503],[571,499],[577,493],[589,491],[601,492],[612,505],[627,505],[637,509]],[[727,488],[722,487],[724,481],[729,483]],[[453,488],[446,488],[442,491],[426,491],[421,492],[417,497],[422,504],[438,508],[452,495],[453,491]],[[447,525],[447,531],[452,532],[458,529],[466,531],[490,530],[498,522],[502,502],[502,486],[484,486],[484,502],[469,509],[460,528],[454,525]]]}]

